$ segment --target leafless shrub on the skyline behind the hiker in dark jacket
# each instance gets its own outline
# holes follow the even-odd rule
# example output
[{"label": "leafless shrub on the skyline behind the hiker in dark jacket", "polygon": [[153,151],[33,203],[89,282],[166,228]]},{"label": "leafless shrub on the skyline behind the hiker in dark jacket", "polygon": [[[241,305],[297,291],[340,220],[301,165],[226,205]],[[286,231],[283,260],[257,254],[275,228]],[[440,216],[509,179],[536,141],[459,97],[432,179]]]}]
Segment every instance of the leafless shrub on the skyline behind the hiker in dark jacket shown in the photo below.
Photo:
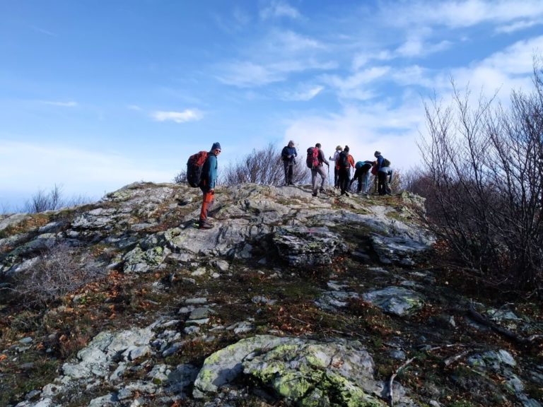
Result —
[{"label": "leafless shrub on the skyline behind the hiker in dark jacket", "polygon": [[[294,166],[293,182],[302,184],[308,182],[310,170],[305,166],[305,151],[298,151],[296,165]],[[221,181],[226,185],[255,184],[279,186],[285,183],[281,148],[269,144],[262,150],[253,150],[237,163],[226,168]]]}]

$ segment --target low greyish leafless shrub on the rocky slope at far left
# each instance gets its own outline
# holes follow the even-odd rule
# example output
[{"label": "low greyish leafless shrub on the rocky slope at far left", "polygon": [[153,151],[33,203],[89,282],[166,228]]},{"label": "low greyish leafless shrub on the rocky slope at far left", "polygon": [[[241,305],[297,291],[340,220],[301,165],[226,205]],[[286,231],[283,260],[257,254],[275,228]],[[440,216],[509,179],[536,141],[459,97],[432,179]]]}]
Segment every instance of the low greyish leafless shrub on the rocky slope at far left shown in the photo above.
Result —
[{"label": "low greyish leafless shrub on the rocky slope at far left", "polygon": [[13,277],[13,293],[25,306],[45,307],[105,276],[90,254],[62,242],[45,250],[37,263]]}]

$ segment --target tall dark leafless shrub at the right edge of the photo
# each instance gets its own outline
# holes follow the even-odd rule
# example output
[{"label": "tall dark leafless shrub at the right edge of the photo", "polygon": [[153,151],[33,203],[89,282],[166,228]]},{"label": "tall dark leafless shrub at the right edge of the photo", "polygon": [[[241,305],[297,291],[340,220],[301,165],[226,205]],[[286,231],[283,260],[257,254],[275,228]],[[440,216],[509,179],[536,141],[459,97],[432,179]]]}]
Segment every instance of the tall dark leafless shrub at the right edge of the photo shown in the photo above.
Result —
[{"label": "tall dark leafless shrub at the right edge of the photo", "polygon": [[[543,288],[543,78],[532,93],[513,92],[506,110],[494,99],[470,105],[426,103],[428,133],[421,188],[431,227],[469,266],[515,288]],[[454,83],[453,83],[454,85]]]}]

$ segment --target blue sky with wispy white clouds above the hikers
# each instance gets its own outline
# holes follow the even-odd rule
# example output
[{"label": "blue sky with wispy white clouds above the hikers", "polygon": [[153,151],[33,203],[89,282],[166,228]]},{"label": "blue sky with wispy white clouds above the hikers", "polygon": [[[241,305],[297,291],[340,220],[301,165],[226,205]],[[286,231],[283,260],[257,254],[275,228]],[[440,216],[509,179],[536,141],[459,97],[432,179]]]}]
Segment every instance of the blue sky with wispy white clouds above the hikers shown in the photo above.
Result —
[{"label": "blue sky with wispy white clouds above the hikers", "polygon": [[214,141],[407,169],[424,98],[507,103],[536,54],[540,0],[0,0],[0,209],[169,182]]}]

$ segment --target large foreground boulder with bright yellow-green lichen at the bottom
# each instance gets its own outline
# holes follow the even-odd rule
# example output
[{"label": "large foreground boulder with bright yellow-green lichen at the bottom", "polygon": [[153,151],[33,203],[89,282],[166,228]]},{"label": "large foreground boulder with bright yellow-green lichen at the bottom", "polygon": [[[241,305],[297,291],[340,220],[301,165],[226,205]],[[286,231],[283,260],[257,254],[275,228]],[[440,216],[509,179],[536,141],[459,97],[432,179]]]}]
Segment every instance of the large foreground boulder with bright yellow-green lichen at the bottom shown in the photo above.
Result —
[{"label": "large foreground boulder with bright yellow-green lichen at the bottom", "polygon": [[204,362],[193,395],[211,396],[248,374],[297,406],[383,406],[373,394],[373,359],[356,341],[245,338]]}]

